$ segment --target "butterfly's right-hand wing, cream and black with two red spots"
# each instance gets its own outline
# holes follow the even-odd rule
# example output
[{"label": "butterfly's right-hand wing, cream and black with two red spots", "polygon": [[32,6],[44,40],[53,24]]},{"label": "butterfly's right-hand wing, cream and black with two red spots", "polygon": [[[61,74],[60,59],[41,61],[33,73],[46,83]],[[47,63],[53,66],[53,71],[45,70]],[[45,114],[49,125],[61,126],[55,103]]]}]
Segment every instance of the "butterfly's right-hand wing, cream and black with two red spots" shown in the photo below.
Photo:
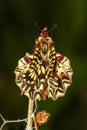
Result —
[{"label": "butterfly's right-hand wing, cream and black with two red spots", "polygon": [[56,100],[63,96],[72,83],[72,68],[67,57],[56,53],[55,66],[48,79],[49,97]]}]

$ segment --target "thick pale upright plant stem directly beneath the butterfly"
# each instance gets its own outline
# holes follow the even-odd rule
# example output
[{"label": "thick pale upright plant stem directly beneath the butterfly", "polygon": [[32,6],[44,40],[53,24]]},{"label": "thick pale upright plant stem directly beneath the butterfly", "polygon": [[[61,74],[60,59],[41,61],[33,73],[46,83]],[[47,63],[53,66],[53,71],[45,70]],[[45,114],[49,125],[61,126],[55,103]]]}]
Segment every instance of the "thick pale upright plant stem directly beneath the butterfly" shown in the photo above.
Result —
[{"label": "thick pale upright plant stem directly beneath the butterfly", "polygon": [[28,104],[28,122],[27,122],[26,130],[32,130],[33,107],[34,107],[34,101],[32,99],[29,99],[29,104]]}]

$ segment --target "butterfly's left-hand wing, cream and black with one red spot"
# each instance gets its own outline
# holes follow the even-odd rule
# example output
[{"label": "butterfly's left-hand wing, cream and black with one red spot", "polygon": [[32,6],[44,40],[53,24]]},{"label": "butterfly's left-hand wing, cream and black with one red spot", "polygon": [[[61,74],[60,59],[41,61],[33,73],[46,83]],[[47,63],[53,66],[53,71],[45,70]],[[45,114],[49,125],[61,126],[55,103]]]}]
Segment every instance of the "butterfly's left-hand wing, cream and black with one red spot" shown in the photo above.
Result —
[{"label": "butterfly's left-hand wing, cream and black with one red spot", "polygon": [[18,61],[18,66],[15,69],[15,82],[21,90],[21,94],[26,95],[27,97],[34,98],[35,95],[35,82],[37,74],[35,69],[31,67],[33,61],[33,55],[26,54],[23,58]]}]

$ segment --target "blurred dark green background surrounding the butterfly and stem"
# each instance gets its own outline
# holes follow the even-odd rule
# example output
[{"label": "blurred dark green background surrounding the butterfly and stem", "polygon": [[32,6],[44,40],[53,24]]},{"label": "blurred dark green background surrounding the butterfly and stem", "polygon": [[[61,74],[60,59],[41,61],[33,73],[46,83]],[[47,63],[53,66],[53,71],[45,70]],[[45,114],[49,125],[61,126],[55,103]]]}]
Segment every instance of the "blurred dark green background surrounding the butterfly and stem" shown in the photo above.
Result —
[{"label": "blurred dark green background surrounding the butterfly and stem", "polygon": [[[41,29],[53,24],[56,50],[67,56],[74,71],[73,83],[64,97],[38,103],[38,110],[51,114],[40,130],[87,130],[87,1],[1,0],[0,1],[0,113],[5,119],[27,116],[28,99],[20,96],[14,69],[26,52],[32,53]],[[2,121],[0,120],[2,123]],[[0,123],[0,124],[1,124]],[[24,130],[14,123],[3,130]]]}]

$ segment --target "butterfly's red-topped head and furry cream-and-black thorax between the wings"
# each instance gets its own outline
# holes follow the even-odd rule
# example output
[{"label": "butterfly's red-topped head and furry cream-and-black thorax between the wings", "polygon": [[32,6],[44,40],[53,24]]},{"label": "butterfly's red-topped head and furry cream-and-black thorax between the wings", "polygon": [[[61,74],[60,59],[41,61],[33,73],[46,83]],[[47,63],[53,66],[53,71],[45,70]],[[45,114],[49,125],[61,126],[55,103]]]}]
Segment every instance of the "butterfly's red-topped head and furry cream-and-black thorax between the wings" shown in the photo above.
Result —
[{"label": "butterfly's red-topped head and furry cream-and-black thorax between the wings", "polygon": [[49,37],[46,28],[43,29],[42,33],[36,40],[36,49],[40,52],[42,60],[48,60],[50,57],[50,52],[53,47],[53,40]]}]

